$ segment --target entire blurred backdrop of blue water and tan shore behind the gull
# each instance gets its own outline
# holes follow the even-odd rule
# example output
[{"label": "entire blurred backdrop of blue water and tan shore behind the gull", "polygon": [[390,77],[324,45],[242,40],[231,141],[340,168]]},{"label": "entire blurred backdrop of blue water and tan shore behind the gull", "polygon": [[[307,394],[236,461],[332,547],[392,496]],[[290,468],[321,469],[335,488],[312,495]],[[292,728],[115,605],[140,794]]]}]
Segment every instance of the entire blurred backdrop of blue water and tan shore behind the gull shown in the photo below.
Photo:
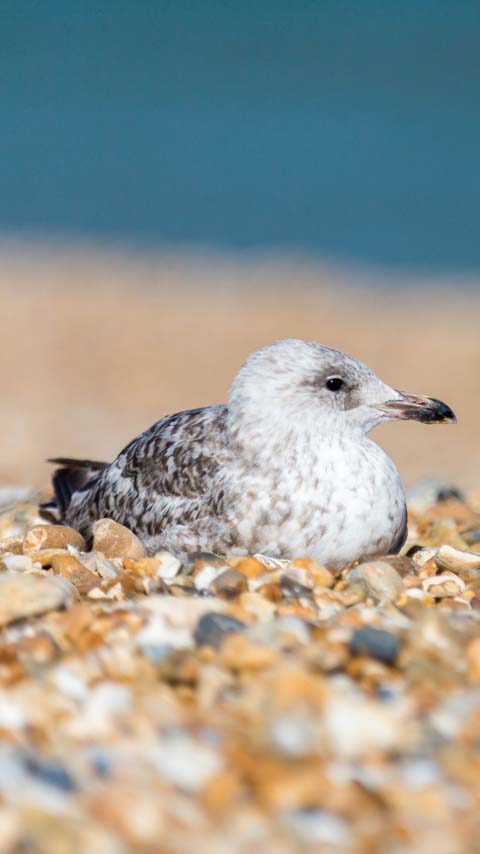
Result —
[{"label": "entire blurred backdrop of blue water and tan shore behind the gull", "polygon": [[288,335],[447,400],[376,436],[478,486],[478,3],[30,0],[0,44],[0,483]]}]

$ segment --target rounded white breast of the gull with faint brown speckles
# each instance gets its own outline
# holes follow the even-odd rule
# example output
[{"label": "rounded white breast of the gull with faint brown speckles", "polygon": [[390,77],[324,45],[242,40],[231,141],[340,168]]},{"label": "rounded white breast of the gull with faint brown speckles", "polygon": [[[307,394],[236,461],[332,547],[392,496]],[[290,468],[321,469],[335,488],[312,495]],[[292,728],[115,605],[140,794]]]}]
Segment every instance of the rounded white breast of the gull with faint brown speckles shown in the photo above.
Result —
[{"label": "rounded white breast of the gull with faint brown speckles", "polygon": [[405,524],[400,476],[368,438],[329,438],[294,463],[279,454],[240,482],[237,537],[251,551],[343,566],[388,552]]}]

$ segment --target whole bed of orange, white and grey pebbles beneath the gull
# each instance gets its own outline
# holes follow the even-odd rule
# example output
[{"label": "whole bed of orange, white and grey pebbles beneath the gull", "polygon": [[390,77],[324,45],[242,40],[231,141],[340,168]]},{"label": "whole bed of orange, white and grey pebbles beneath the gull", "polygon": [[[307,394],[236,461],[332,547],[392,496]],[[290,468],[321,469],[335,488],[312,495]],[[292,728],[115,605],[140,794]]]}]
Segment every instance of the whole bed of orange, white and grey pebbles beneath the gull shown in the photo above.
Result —
[{"label": "whole bed of orange, white and grey pebbles beneath the gull", "polygon": [[335,573],[0,508],[0,851],[475,850],[478,496]]}]

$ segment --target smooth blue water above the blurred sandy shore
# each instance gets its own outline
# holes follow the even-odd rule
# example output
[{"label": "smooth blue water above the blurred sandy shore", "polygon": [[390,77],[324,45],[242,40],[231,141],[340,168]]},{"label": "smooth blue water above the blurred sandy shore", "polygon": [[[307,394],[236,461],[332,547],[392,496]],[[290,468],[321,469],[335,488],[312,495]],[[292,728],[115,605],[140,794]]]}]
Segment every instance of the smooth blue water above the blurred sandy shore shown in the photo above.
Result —
[{"label": "smooth blue water above the blurred sandy shore", "polygon": [[2,5],[0,230],[480,268],[480,2]]}]

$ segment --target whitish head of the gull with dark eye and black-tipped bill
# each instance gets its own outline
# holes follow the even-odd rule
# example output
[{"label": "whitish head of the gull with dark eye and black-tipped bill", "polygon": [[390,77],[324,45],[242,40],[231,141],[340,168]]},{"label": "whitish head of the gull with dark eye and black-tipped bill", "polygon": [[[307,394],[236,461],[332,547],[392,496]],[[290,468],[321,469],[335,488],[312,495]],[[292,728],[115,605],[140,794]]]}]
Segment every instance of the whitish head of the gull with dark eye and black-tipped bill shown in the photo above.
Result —
[{"label": "whitish head of the gull with dark eye and black-tipped bill", "polygon": [[237,374],[230,403],[267,418],[272,430],[280,419],[302,419],[327,433],[368,433],[384,421],[456,421],[442,401],[398,391],[340,350],[298,339],[253,353]]}]

